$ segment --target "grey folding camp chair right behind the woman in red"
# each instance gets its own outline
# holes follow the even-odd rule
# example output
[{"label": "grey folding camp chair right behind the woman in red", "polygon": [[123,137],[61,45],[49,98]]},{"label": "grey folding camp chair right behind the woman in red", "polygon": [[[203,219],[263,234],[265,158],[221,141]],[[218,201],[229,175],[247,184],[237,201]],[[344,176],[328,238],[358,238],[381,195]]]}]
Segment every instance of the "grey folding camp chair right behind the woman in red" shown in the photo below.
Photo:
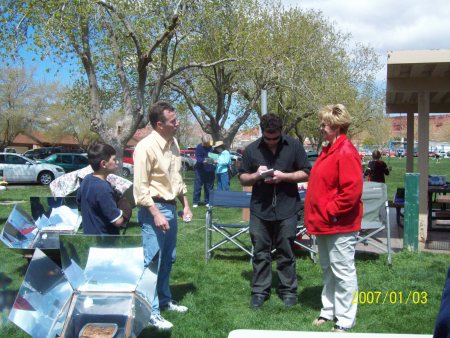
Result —
[{"label": "grey folding camp chair right behind the woman in red", "polygon": [[[364,182],[362,201],[364,214],[357,243],[371,244],[387,252],[388,264],[391,266],[391,228],[386,184]],[[386,244],[376,237],[383,230],[386,231]]]}]

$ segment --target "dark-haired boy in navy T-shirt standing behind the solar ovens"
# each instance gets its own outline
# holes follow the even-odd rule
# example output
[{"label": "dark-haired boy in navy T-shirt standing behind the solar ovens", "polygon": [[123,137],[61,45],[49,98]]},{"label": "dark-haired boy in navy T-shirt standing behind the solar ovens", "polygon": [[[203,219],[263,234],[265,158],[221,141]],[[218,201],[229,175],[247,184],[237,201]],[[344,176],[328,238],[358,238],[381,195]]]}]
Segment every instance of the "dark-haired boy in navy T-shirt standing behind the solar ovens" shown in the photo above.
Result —
[{"label": "dark-haired boy in navy T-shirt standing behind the solar ovens", "polygon": [[131,218],[131,206],[125,199],[118,205],[117,195],[106,181],[117,170],[116,150],[109,144],[94,144],[88,149],[88,161],[94,172],[83,179],[77,191],[83,233],[119,235]]}]

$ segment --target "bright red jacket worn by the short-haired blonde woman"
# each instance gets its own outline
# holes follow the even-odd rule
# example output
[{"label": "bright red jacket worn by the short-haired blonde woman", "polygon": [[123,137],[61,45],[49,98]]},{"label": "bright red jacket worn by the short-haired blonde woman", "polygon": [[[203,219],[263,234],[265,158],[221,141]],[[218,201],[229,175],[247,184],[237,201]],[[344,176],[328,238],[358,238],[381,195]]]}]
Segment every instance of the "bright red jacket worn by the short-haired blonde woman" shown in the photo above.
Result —
[{"label": "bright red jacket worn by the short-haired blonde woman", "polygon": [[358,151],[340,135],[312,167],[305,198],[305,225],[313,235],[359,231],[363,172]]}]

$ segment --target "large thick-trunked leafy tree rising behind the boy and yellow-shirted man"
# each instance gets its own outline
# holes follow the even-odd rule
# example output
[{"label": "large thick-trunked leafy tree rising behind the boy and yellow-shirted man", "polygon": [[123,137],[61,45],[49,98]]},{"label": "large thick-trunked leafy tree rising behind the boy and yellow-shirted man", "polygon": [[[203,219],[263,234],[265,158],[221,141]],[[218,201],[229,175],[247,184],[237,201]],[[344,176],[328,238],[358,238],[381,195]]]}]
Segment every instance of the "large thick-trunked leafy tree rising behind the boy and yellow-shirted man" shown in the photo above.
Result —
[{"label": "large thick-trunked leafy tree rising behind the boy and yellow-shirted man", "polygon": [[[90,128],[121,157],[122,146],[148,123],[146,103],[164,95],[165,83],[186,69],[208,66],[183,54],[195,43],[192,24],[208,13],[194,0],[179,4],[5,0],[0,7],[0,38],[9,43],[2,51],[9,56],[28,46],[42,58],[52,56],[61,63],[77,59],[89,86]],[[106,93],[113,95],[104,105],[101,97]],[[117,110],[123,114],[111,126],[108,118]]]}]

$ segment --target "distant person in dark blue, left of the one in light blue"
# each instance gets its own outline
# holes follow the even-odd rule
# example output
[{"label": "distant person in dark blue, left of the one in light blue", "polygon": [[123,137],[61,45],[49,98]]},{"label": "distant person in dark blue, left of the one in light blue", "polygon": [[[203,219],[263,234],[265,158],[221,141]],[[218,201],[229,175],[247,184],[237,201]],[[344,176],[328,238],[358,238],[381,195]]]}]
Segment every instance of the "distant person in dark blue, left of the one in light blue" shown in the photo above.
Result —
[{"label": "distant person in dark blue, left of the one in light blue", "polygon": [[200,196],[203,188],[203,198],[208,206],[209,191],[214,189],[214,165],[208,162],[208,153],[212,152],[211,137],[203,135],[202,143],[195,148],[195,178],[192,206],[197,208],[200,204]]}]

